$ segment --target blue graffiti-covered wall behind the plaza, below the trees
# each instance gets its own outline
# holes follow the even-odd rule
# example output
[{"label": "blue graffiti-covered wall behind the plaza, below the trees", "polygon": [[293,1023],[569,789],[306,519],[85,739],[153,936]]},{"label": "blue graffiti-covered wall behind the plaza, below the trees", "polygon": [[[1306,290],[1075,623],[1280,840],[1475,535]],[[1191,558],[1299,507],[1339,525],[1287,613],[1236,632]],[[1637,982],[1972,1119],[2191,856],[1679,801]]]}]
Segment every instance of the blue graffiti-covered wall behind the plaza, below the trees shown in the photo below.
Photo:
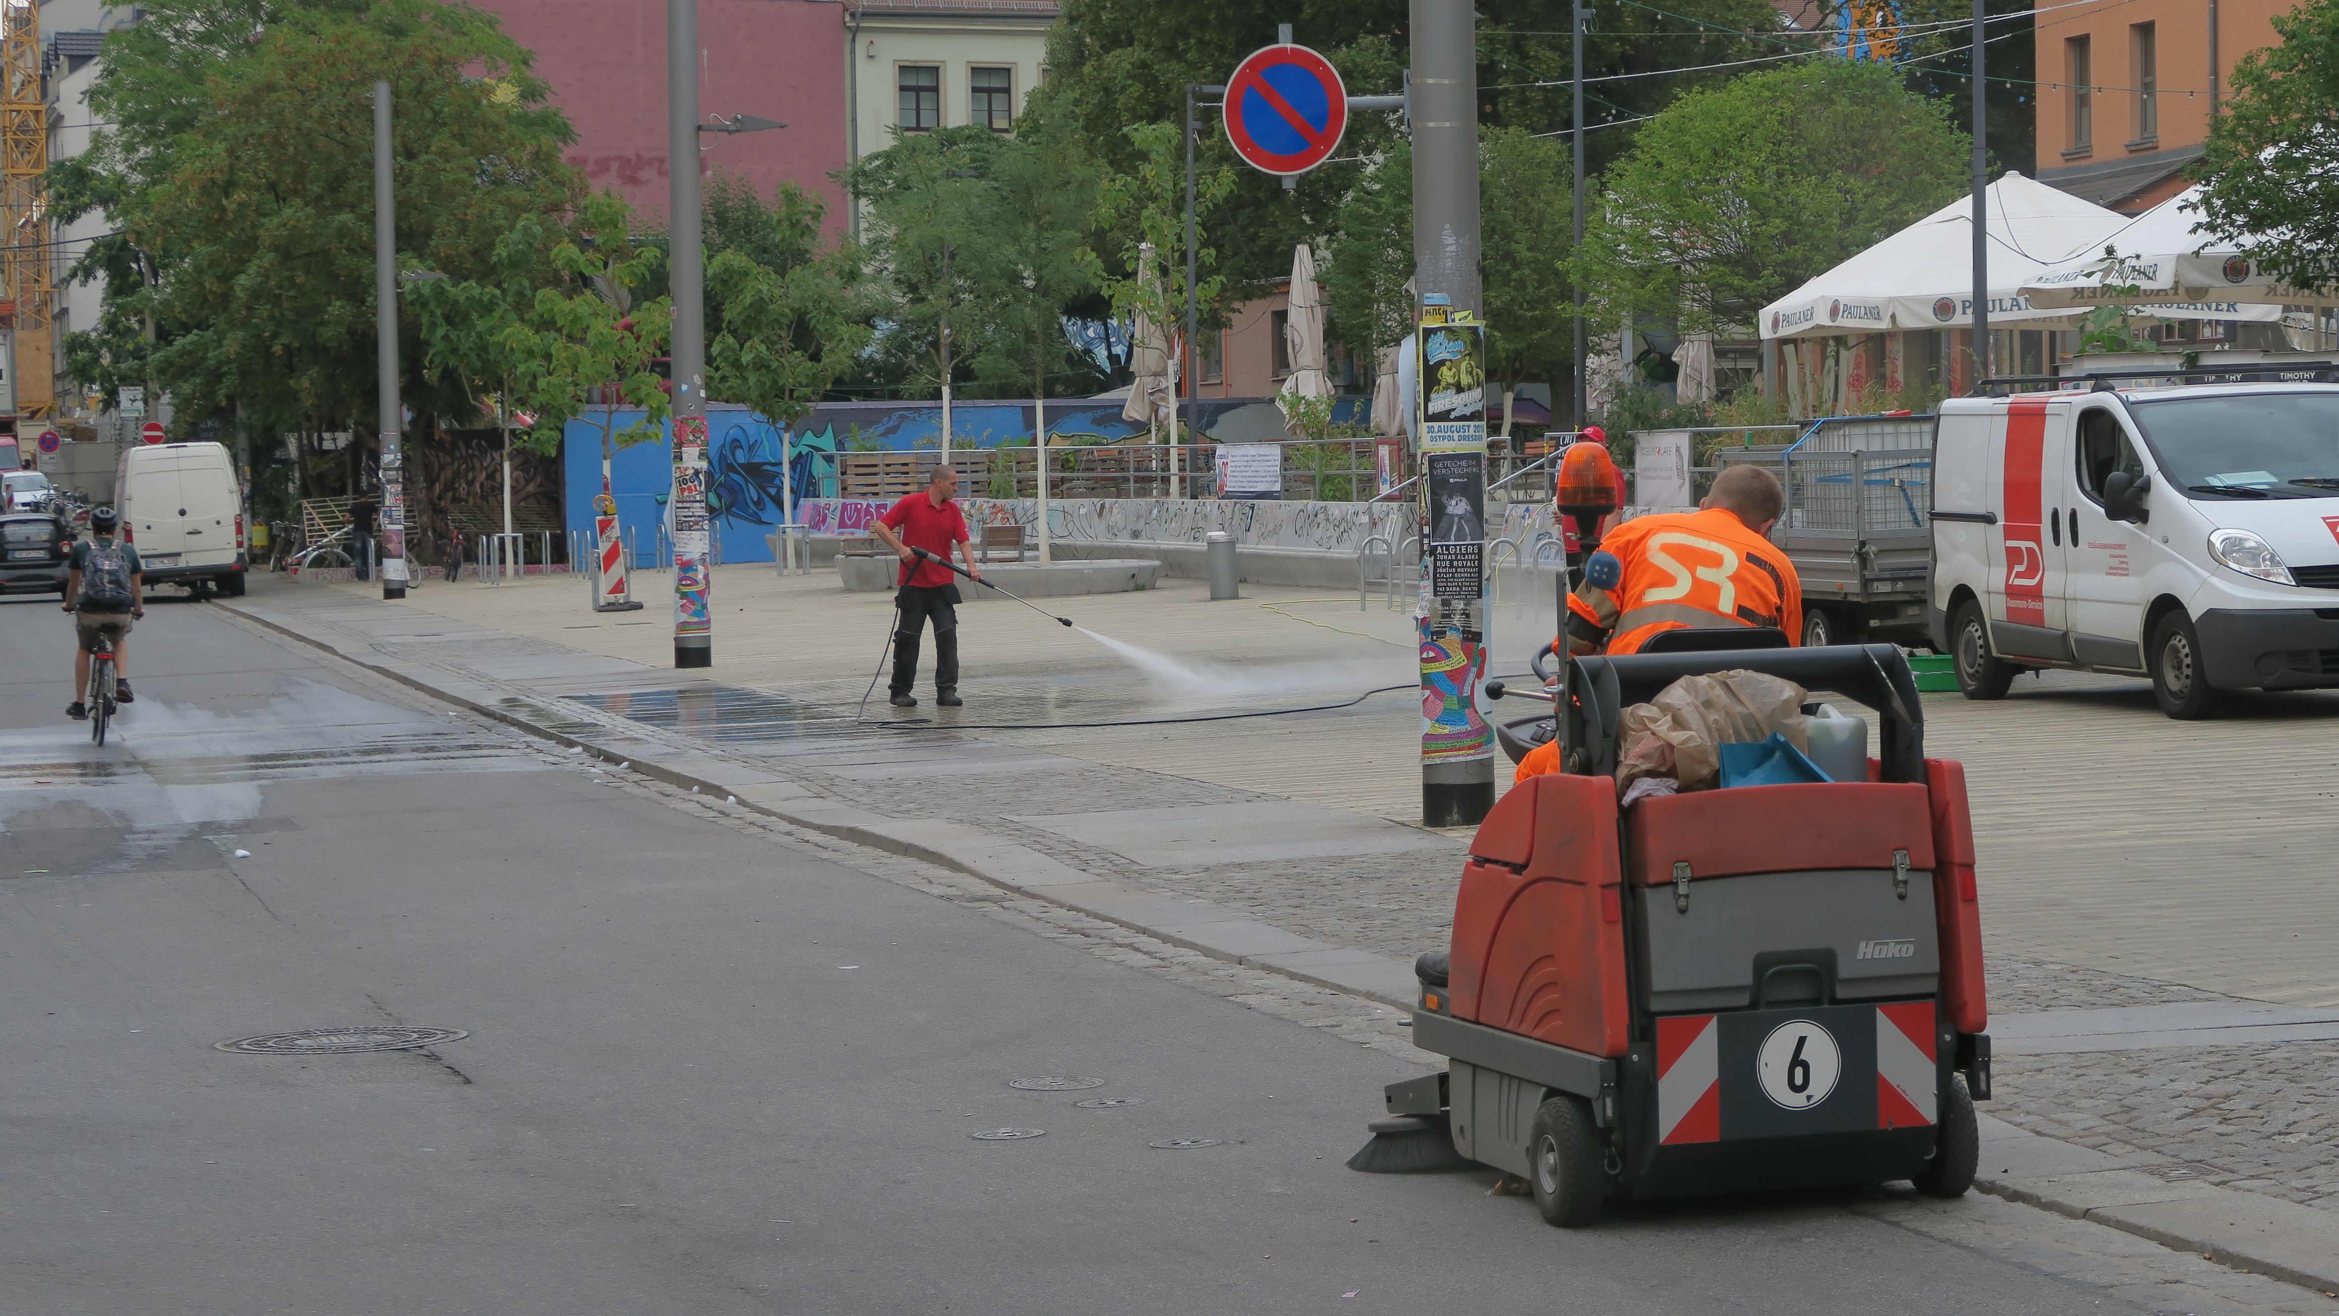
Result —
[{"label": "blue graffiti-covered wall behind the plaza, below the trees", "polygon": [[[1265,407],[1265,414],[1258,409]],[[1371,397],[1343,397],[1336,421],[1361,423]],[[1193,404],[1191,423],[1212,430],[1244,430],[1258,439],[1270,423],[1272,402],[1261,397],[1209,397]],[[617,409],[613,430],[636,423],[641,411]],[[1029,402],[959,402],[950,409],[952,446],[999,446],[1031,442]],[[627,542],[639,545],[641,561],[662,552],[660,526],[667,519],[667,489],[674,484],[671,428],[655,442],[617,449],[610,460],[610,493],[617,498],[617,521]],[[571,531],[592,535],[592,500],[601,493],[601,414],[568,421],[561,442],[564,517]],[[1144,439],[1144,428],[1120,416],[1118,400],[1064,400],[1048,404],[1048,437],[1057,444],[1111,444]],[[1223,435],[1233,439],[1235,435]],[[746,407],[713,402],[706,407],[706,512],[713,521],[718,561],[772,561],[765,535],[781,524],[781,442],[779,430]],[[917,451],[940,449],[943,407],[929,402],[821,402],[791,425],[788,486],[798,500],[835,498],[835,463],[816,453],[835,451]]]}]

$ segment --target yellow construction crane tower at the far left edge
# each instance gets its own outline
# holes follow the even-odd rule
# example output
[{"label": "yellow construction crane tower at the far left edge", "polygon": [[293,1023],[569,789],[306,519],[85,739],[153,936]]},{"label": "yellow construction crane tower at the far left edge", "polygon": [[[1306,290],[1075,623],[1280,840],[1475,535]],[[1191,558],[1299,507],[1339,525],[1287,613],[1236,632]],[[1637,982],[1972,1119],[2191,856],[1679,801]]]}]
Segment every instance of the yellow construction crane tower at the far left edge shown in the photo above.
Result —
[{"label": "yellow construction crane tower at the far left edge", "polygon": [[[56,416],[49,250],[49,105],[40,84],[40,5],[0,0],[0,290],[16,299],[16,416]],[[23,425],[19,423],[19,430]]]}]

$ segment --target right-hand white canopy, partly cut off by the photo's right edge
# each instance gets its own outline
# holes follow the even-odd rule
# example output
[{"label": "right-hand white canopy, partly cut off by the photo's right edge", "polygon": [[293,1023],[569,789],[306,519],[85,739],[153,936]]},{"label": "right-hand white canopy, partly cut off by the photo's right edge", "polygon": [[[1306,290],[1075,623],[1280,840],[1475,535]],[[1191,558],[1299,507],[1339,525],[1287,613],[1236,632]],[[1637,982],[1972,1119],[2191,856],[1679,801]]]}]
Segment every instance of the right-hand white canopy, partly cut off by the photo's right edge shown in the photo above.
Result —
[{"label": "right-hand white canopy, partly cut off by the photo's right edge", "polygon": [[[2262,313],[2266,306],[2339,306],[2339,292],[2276,283],[2250,259],[2248,238],[2229,243],[2203,231],[2199,203],[2201,187],[2187,187],[2030,276],[2021,292],[2033,306],[2098,306],[2124,302],[2114,288],[2136,288],[2161,302],[2215,302],[2257,311],[2224,316],[2231,320],[2271,318]],[[2119,259],[2110,259],[2105,248],[2119,252]]]}]

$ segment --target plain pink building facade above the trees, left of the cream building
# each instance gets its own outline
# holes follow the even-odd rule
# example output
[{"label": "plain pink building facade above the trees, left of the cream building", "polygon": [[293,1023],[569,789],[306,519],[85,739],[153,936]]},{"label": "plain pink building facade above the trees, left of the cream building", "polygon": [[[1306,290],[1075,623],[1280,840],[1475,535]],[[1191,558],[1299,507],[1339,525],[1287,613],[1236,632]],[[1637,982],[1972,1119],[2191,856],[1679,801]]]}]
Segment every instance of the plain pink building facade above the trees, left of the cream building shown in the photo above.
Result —
[{"label": "plain pink building facade above the trees, left of the cream building", "polygon": [[[475,0],[536,51],[536,72],[575,124],[568,161],[643,215],[667,213],[664,0]],[[699,112],[758,115],[786,129],[704,133],[699,168],[746,178],[765,196],[795,182],[847,222],[830,173],[847,164],[844,5],[699,0]]]}]

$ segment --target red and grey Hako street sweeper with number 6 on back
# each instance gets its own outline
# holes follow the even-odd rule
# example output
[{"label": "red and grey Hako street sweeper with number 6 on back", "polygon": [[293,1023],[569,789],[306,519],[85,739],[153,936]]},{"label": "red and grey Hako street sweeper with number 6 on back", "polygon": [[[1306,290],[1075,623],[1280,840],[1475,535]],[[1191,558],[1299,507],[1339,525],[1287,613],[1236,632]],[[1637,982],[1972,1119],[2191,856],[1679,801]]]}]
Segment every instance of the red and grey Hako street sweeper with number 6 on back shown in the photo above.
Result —
[{"label": "red and grey Hako street sweeper with number 6 on back", "polygon": [[[1619,718],[1752,669],[1869,706],[1869,781],[1619,806]],[[1415,965],[1415,1045],[1350,1162],[1523,1176],[1576,1227],[1609,1197],[1913,1180],[1958,1197],[1990,1094],[1965,769],[1927,760],[1892,645],[1584,657],[1567,771],[1471,841],[1453,944]]]}]

